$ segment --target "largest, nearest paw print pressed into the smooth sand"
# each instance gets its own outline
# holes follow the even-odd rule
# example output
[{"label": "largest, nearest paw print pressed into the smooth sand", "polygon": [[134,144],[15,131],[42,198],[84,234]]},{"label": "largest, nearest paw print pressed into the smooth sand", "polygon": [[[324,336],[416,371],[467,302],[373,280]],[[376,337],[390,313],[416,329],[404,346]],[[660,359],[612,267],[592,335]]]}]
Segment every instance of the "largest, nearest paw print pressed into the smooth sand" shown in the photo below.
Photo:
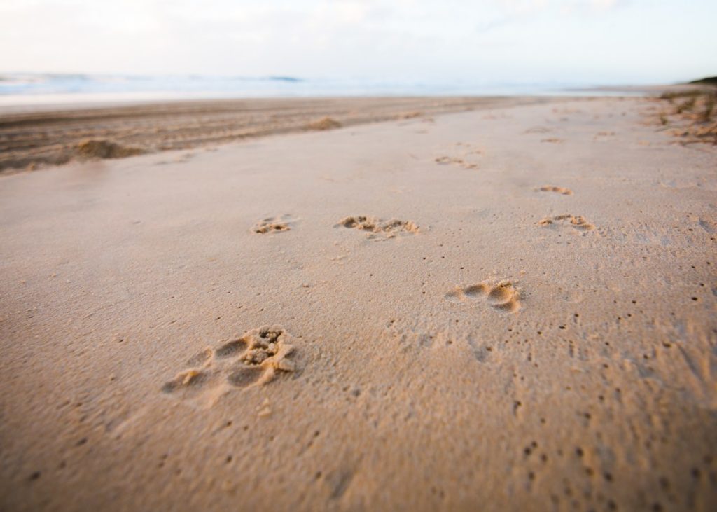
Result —
[{"label": "largest, nearest paw print pressed into the smooth sand", "polygon": [[281,326],[264,326],[186,361],[186,368],[167,381],[162,392],[189,402],[212,405],[232,389],[260,386],[281,372],[293,371],[293,346]]}]

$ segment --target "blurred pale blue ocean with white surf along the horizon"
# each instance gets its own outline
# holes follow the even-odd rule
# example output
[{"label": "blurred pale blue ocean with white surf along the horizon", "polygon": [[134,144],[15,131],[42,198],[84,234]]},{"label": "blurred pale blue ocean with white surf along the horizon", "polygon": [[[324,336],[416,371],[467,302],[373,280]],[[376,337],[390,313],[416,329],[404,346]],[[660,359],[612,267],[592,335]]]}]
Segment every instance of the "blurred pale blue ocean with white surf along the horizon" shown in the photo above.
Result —
[{"label": "blurred pale blue ocean with white surf along the horizon", "polygon": [[327,96],[606,95],[592,84],[206,75],[0,74],[0,105]]}]

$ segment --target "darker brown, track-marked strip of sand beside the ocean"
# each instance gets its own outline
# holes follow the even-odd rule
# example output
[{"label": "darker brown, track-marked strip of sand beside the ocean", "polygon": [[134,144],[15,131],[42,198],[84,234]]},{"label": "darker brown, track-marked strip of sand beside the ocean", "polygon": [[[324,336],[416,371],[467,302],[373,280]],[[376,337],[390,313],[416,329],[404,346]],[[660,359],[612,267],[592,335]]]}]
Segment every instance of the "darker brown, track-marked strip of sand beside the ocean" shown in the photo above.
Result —
[{"label": "darker brown, track-marked strip of sand beside the ocean", "polygon": [[305,98],[0,106],[0,173],[548,98]]}]

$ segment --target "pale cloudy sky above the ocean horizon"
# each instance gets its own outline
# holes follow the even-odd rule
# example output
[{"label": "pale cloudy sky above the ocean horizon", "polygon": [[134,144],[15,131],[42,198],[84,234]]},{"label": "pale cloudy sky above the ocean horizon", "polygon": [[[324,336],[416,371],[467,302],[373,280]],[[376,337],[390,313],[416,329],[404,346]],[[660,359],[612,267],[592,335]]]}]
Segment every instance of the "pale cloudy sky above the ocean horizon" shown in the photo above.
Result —
[{"label": "pale cloudy sky above the ocean horizon", "polygon": [[0,0],[0,72],[665,83],[716,0]]}]

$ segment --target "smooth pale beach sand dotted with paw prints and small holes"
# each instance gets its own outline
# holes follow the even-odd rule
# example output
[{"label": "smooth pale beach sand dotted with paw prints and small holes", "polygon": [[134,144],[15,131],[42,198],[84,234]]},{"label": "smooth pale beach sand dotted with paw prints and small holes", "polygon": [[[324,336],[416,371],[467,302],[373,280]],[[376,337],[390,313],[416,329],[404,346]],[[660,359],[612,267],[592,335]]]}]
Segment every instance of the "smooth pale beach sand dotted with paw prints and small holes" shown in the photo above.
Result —
[{"label": "smooth pale beach sand dotted with paw prints and small holes", "polygon": [[717,152],[647,106],[0,177],[0,508],[715,510]]}]

